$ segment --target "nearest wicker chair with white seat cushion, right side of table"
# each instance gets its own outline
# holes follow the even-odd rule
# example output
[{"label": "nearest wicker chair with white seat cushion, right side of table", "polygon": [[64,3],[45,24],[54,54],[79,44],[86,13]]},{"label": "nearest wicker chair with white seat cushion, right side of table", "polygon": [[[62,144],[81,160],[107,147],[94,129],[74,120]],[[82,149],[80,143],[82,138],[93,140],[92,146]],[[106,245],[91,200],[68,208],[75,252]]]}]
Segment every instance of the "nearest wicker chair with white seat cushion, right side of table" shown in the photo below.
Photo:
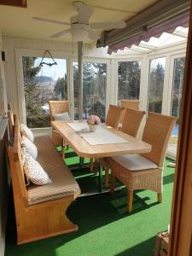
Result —
[{"label": "nearest wicker chair with white seat cushion, right side of table", "polygon": [[132,211],[133,190],[150,189],[157,192],[162,201],[162,173],[166,147],[175,124],[174,117],[159,113],[148,113],[143,131],[143,141],[152,145],[146,154],[125,154],[110,159],[112,170],[111,192],[114,191],[115,177],[125,184],[128,190],[128,212]]}]

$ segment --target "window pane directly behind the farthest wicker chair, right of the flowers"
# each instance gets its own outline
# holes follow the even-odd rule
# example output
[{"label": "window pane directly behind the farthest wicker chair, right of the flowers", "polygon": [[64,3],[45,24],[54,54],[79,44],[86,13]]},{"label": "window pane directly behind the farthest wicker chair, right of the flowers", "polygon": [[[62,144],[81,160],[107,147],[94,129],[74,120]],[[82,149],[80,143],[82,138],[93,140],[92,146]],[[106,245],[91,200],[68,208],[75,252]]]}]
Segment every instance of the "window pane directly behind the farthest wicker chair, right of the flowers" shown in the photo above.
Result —
[{"label": "window pane directly behind the farthest wicker chair, right of the flowers", "polygon": [[141,61],[118,63],[118,103],[123,99],[139,99]]}]

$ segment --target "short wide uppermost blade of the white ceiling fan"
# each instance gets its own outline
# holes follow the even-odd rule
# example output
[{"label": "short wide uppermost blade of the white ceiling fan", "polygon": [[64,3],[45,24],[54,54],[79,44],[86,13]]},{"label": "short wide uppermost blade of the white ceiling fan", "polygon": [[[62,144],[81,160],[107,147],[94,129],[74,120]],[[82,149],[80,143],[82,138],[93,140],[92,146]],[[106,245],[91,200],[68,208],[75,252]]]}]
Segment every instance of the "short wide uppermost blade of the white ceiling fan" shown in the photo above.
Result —
[{"label": "short wide uppermost blade of the white ceiling fan", "polygon": [[73,7],[78,11],[79,23],[88,24],[90,20],[90,16],[94,12],[94,9],[91,8],[89,5],[80,1],[74,2]]}]

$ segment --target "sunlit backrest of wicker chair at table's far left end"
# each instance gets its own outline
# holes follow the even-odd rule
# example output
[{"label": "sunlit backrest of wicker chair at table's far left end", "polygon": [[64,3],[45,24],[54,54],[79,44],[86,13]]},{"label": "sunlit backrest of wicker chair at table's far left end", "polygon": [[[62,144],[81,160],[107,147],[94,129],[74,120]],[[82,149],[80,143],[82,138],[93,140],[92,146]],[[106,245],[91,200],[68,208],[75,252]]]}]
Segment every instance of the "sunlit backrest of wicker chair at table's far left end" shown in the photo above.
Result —
[{"label": "sunlit backrest of wicker chair at table's far left end", "polygon": [[69,112],[68,101],[49,101],[50,121],[54,121],[53,114]]}]

